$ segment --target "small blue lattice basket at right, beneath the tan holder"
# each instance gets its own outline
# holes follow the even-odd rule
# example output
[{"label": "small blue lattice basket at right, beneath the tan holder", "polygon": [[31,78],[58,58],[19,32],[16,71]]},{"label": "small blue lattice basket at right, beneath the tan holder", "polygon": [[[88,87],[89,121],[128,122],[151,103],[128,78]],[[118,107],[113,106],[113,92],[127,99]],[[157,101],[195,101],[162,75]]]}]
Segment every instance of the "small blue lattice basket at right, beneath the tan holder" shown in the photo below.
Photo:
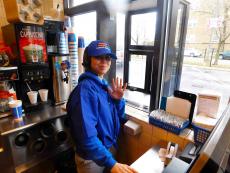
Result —
[{"label": "small blue lattice basket at right, beneath the tan holder", "polygon": [[194,130],[194,142],[196,144],[204,144],[206,140],[208,139],[211,131],[204,129],[202,127],[196,126],[195,124],[192,124],[193,130]]}]

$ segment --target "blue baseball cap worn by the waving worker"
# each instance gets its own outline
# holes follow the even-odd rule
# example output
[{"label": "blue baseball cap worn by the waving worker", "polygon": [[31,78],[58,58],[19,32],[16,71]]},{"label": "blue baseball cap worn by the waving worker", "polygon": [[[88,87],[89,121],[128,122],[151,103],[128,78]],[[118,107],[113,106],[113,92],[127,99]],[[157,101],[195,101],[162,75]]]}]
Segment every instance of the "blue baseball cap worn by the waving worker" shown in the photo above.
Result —
[{"label": "blue baseball cap worn by the waving worker", "polygon": [[112,59],[117,59],[117,56],[112,52],[108,43],[102,40],[92,41],[87,46],[88,56],[109,55]]}]

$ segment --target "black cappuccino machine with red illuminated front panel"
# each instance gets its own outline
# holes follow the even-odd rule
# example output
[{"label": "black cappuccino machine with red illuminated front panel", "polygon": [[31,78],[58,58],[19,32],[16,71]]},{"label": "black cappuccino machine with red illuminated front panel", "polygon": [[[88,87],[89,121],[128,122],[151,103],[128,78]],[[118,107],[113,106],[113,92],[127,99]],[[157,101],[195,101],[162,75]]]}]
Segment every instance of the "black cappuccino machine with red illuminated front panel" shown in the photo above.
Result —
[{"label": "black cappuccino machine with red illuminated front panel", "polygon": [[38,96],[36,104],[31,104],[27,93],[30,90],[49,89],[50,70],[47,59],[45,32],[43,26],[15,23],[2,27],[3,38],[13,53],[11,60],[18,66],[20,81],[16,82],[16,92],[23,101],[26,112],[41,109],[47,102]]}]

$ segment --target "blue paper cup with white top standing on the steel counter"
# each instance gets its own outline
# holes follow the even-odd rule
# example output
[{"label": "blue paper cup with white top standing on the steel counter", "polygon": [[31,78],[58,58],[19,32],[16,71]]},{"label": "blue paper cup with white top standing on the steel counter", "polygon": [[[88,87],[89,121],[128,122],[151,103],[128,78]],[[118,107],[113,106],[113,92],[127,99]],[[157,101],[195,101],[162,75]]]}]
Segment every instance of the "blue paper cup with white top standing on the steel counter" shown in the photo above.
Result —
[{"label": "blue paper cup with white top standing on the steel counter", "polygon": [[12,115],[15,119],[22,118],[22,101],[21,100],[12,100],[9,102],[9,107],[11,109]]}]

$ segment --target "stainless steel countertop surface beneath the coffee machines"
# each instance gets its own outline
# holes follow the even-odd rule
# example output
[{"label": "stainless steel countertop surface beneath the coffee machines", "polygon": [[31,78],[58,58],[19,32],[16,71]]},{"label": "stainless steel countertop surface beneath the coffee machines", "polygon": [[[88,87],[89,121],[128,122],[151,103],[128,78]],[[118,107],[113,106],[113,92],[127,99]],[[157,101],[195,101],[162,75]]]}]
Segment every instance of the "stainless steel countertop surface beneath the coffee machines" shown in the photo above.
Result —
[{"label": "stainless steel countertop surface beneath the coffee machines", "polygon": [[8,135],[10,133],[32,127],[39,123],[51,120],[54,118],[62,117],[66,115],[66,111],[63,106],[46,106],[43,110],[27,113],[23,116],[23,120],[17,122],[14,120],[13,116],[8,116],[0,119],[0,134],[2,136]]}]

